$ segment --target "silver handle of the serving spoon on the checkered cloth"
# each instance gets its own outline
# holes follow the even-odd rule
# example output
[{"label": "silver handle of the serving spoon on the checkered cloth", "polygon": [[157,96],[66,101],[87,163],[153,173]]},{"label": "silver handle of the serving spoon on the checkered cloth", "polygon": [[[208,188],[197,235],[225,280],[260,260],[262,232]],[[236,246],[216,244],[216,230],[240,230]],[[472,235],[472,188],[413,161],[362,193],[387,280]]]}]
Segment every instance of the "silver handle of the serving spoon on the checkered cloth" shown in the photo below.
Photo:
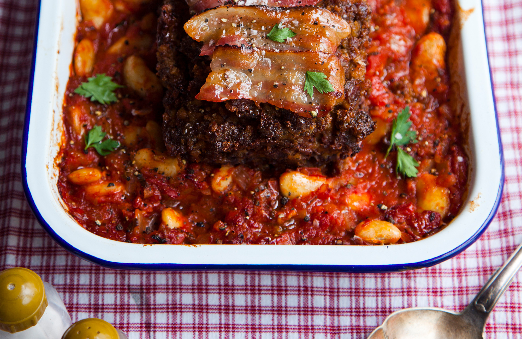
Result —
[{"label": "silver handle of the serving spoon on the checkered cloth", "polygon": [[504,265],[496,270],[495,274],[491,276],[479,294],[473,299],[471,305],[481,312],[490,313],[493,307],[495,307],[496,302],[511,284],[511,281],[521,266],[522,244],[517,247]]}]

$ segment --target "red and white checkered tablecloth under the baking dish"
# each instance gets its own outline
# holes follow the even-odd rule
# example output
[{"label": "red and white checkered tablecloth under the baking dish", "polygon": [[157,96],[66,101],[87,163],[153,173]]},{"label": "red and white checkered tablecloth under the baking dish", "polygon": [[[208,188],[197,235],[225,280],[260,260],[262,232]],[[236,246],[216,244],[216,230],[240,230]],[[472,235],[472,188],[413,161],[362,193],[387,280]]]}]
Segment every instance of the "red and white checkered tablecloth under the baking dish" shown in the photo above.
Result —
[{"label": "red and white checkered tablecloth under the baking dish", "polygon": [[[37,0],[0,0],[0,269],[52,283],[73,321],[98,317],[129,338],[365,338],[413,306],[461,310],[522,243],[522,1],[484,0],[504,197],[488,231],[459,256],[393,274],[116,271],[70,255],[23,196],[20,154]],[[493,131],[492,131],[493,132]],[[489,318],[488,338],[522,337],[522,273]]]}]

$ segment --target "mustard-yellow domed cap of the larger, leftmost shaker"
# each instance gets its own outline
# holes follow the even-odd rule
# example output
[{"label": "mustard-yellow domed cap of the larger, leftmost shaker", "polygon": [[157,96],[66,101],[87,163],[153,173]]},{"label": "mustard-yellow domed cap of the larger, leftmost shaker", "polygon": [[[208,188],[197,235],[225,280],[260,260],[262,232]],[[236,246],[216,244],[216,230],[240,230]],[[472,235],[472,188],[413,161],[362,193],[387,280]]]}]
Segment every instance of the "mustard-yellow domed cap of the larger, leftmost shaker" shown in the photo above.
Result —
[{"label": "mustard-yellow domed cap of the larger, leftmost shaker", "polygon": [[23,267],[0,272],[0,330],[27,330],[38,323],[47,305],[38,274]]}]

